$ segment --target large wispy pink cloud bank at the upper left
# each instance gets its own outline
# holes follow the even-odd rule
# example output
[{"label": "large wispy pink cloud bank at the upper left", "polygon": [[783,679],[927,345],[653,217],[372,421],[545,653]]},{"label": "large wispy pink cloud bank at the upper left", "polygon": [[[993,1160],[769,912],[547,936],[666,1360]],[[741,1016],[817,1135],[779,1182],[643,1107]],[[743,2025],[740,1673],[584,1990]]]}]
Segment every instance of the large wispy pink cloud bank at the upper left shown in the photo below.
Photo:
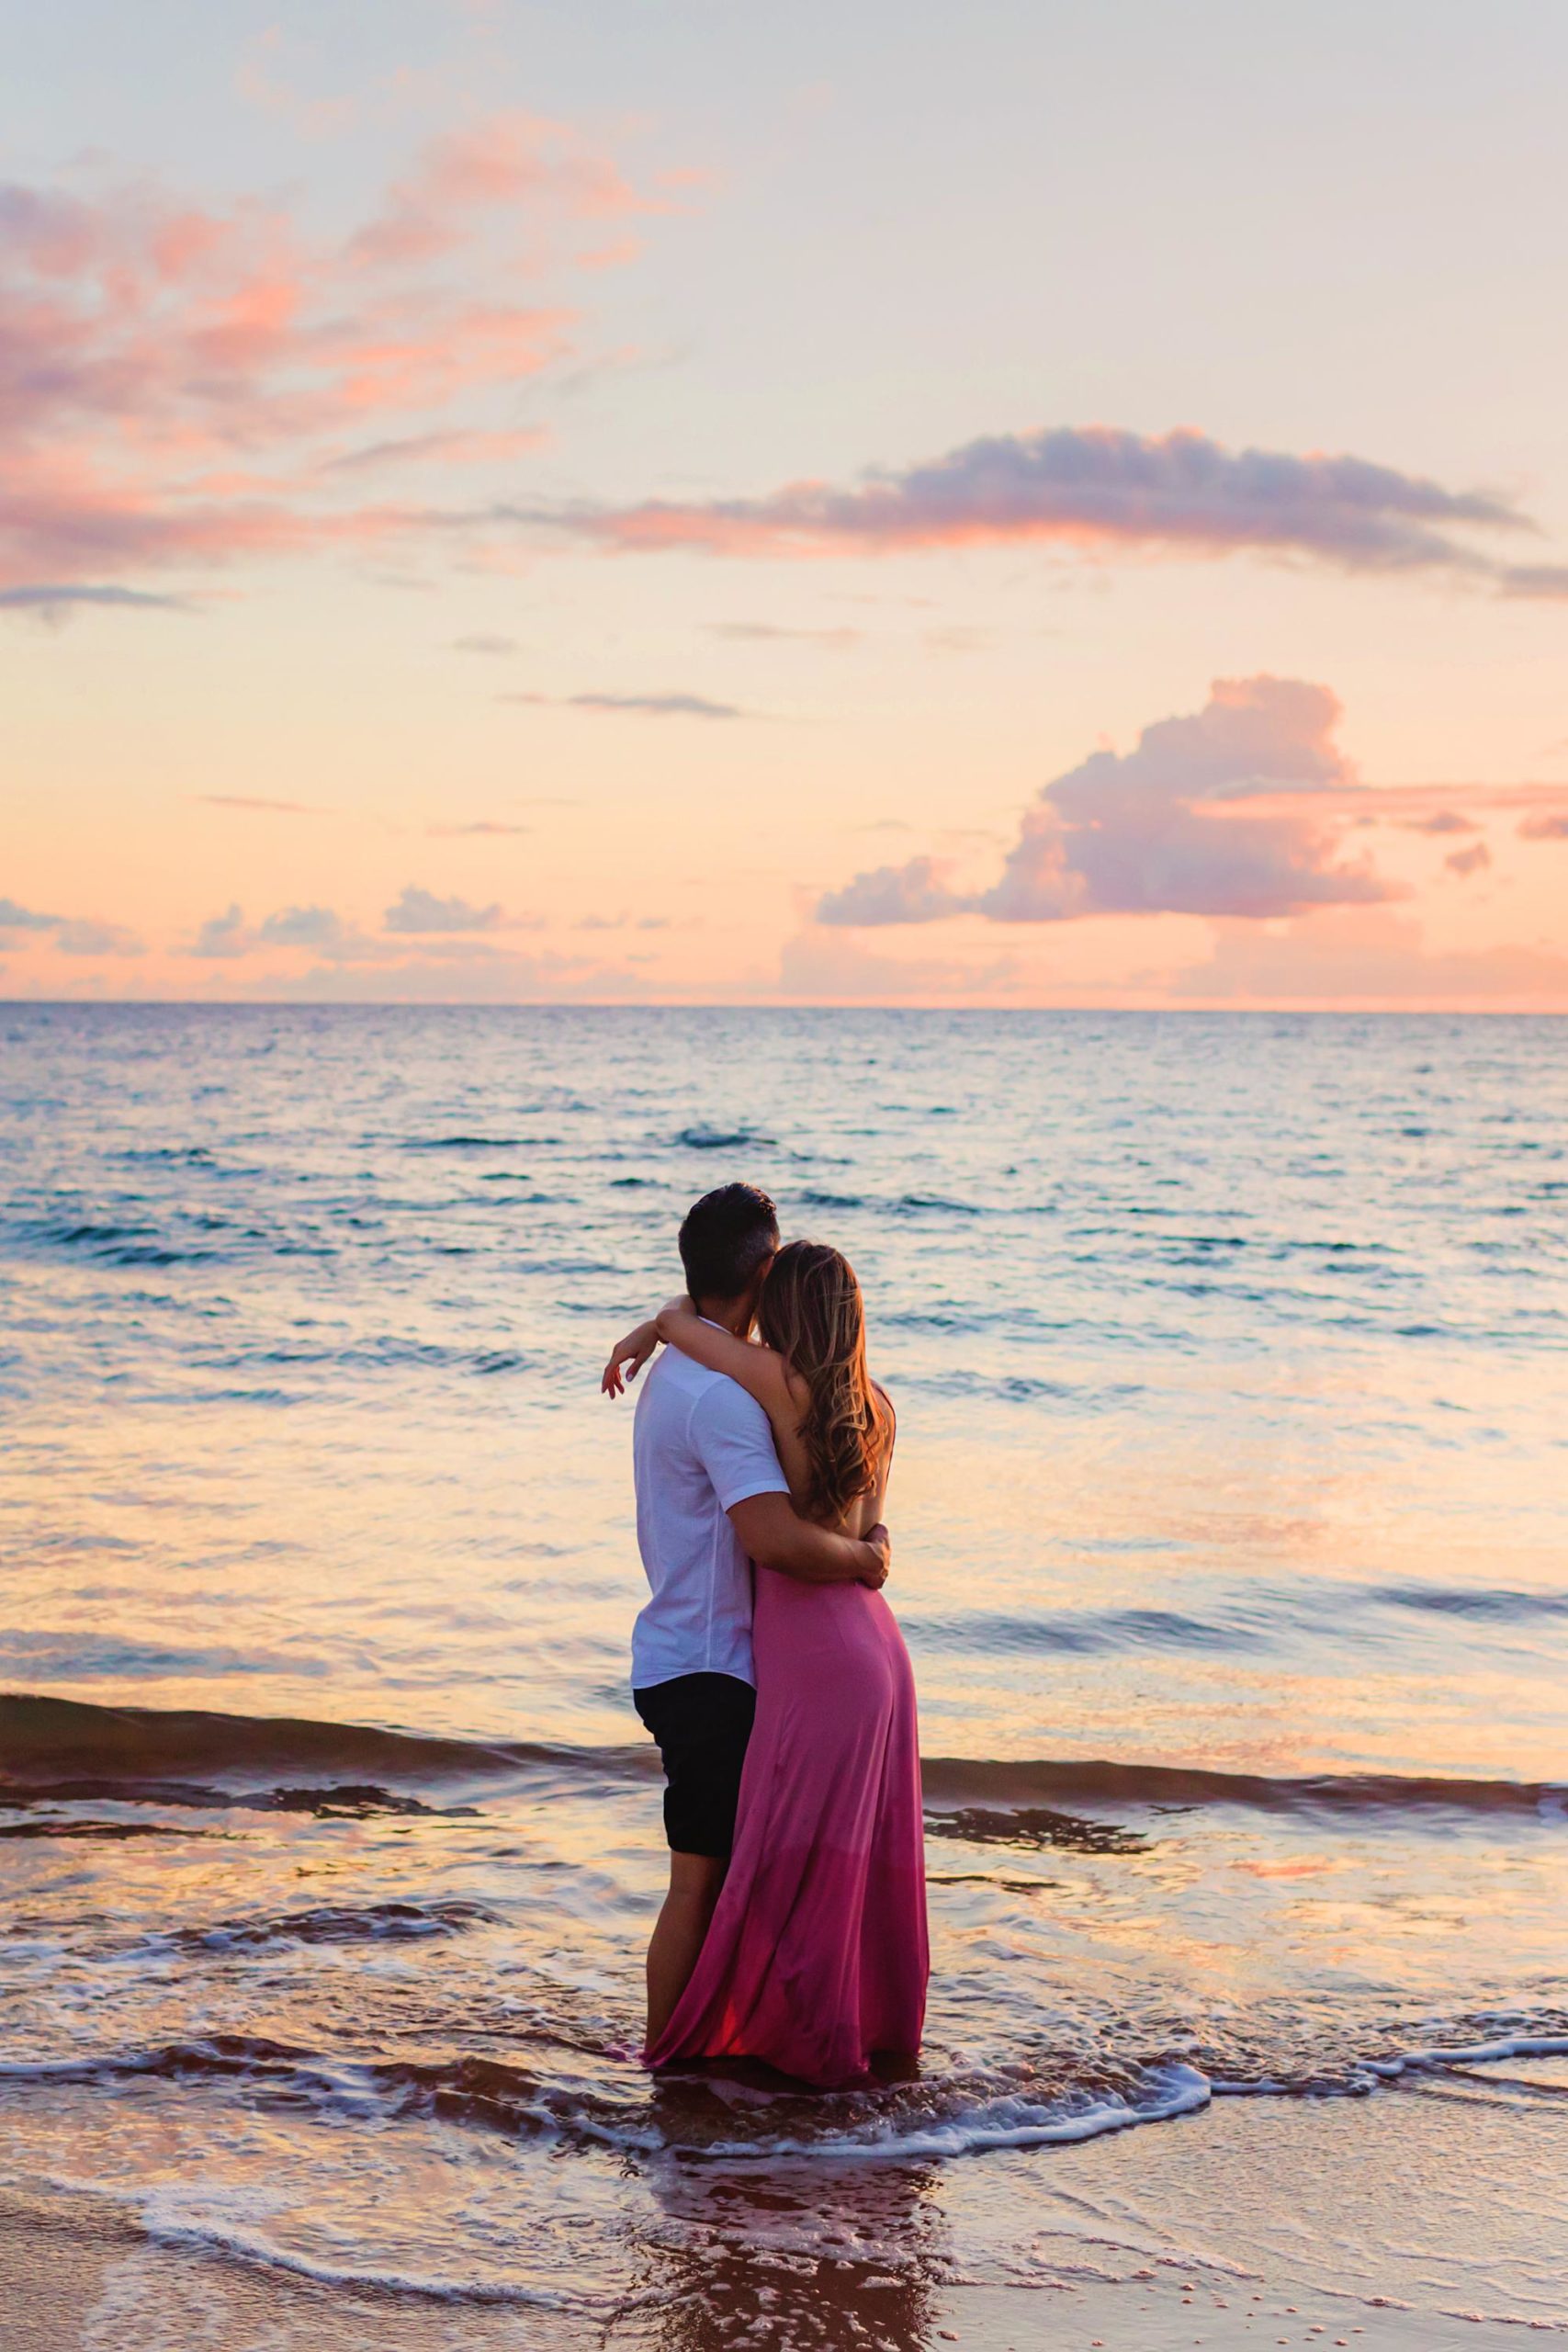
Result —
[{"label": "large wispy pink cloud bank at the upper left", "polygon": [[527,449],[484,402],[559,360],[576,313],[517,299],[517,230],[543,268],[550,223],[639,209],[567,125],[520,115],[430,141],[339,242],[146,181],[0,186],[0,586],[454,529],[336,501],[355,470]]}]

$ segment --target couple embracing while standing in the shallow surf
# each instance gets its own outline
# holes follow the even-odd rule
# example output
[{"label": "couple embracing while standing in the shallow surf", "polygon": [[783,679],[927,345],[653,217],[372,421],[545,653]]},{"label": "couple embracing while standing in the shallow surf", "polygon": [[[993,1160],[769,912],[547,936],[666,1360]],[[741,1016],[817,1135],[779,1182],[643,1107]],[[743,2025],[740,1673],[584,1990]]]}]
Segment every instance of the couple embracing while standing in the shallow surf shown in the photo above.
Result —
[{"label": "couple embracing while standing in the shallow surf", "polygon": [[686,1296],[604,1369],[621,1395],[665,1343],[632,1435],[632,1698],[670,1839],[644,2060],[837,2089],[912,2056],[926,2006],[914,1677],[882,1597],[893,1406],[853,1270],[780,1249],[766,1192],[708,1192],[679,1254]]}]

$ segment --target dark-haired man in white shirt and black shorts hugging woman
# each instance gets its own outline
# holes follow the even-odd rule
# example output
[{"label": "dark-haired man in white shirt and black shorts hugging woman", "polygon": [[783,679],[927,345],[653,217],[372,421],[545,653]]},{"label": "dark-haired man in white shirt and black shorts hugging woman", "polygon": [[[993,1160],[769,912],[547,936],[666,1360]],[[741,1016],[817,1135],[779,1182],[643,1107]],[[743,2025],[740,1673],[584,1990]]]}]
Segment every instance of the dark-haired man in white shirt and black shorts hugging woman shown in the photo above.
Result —
[{"label": "dark-haired man in white shirt and black shorts hugging woman", "polygon": [[[745,1336],[778,1251],[766,1192],[729,1183],[679,1230],[698,1315]],[[882,1585],[867,1541],[802,1519],[755,1397],[675,1348],[649,1367],[632,1430],[637,1548],[649,1602],[632,1628],[632,1700],[665,1766],[670,1891],[649,1943],[649,2044],[696,1969],[736,1835],[752,1731],[752,1562],[804,1583]]]}]

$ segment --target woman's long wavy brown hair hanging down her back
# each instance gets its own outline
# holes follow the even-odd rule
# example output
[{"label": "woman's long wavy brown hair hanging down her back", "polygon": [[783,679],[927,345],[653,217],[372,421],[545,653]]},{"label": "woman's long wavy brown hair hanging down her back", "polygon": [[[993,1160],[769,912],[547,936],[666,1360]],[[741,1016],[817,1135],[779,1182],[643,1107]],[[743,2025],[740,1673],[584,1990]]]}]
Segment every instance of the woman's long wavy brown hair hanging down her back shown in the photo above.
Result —
[{"label": "woman's long wavy brown hair hanging down her back", "polygon": [[870,1494],[893,1437],[865,1369],[865,1308],[856,1270],[825,1242],[788,1242],[762,1284],[757,1324],[806,1383],[799,1425],[811,1465],[806,1515],[842,1519]]}]

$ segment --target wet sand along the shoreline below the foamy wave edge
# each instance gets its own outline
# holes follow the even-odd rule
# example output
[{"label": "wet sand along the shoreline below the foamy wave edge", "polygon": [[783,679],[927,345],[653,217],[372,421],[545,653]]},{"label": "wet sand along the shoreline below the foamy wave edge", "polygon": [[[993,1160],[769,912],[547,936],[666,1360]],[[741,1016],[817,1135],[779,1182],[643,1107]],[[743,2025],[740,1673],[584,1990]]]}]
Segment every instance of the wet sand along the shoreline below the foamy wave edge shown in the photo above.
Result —
[{"label": "wet sand along the shoreline below the foamy wave edge", "polygon": [[[555,2307],[329,2284],[158,2244],[110,2199],[40,2183],[0,2197],[0,2340],[5,2352],[1502,2352],[1568,2336],[1568,2119],[1556,2082],[1535,2091],[1488,2103],[1481,2173],[1450,2161],[1446,2100],[1218,2103],[1157,2133],[943,2169],[929,2192],[952,2256],[924,2277],[780,2263],[766,2230],[672,2270],[637,2258],[632,2227],[604,2272],[559,2281]],[[825,2209],[837,2178],[813,2171]],[[755,2197],[762,2211],[766,2180]],[[1009,2237],[997,2213],[1011,2216],[1011,2279],[1006,2256],[976,2253],[980,2206],[997,2246]],[[1481,2300],[1465,2300],[1465,2281]]]}]

